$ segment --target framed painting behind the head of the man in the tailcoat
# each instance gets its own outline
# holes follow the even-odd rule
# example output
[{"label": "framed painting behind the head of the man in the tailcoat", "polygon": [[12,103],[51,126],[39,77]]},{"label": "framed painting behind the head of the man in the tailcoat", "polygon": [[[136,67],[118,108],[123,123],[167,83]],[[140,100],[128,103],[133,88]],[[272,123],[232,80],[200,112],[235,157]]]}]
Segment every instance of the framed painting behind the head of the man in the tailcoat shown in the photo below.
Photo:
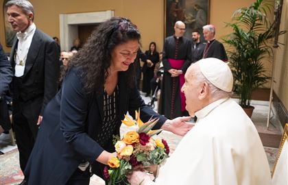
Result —
[{"label": "framed painting behind the head of the man in the tailcoat", "polygon": [[7,8],[5,8],[5,3],[7,3],[9,0],[3,1],[3,17],[4,17],[4,29],[5,29],[5,42],[6,47],[12,47],[14,36],[16,33],[13,31],[12,26],[10,23],[8,23],[8,16],[6,14]]}]

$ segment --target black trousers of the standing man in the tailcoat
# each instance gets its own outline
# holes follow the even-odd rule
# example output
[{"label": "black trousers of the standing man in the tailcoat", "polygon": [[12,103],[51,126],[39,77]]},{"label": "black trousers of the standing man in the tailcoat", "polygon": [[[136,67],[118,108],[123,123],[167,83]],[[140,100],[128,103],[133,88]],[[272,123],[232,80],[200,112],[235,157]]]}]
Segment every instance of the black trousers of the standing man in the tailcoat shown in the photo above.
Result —
[{"label": "black trousers of the standing man in the tailcoat", "polygon": [[21,112],[13,114],[13,126],[19,150],[20,167],[24,171],[34,147],[38,126],[36,123],[29,124]]}]

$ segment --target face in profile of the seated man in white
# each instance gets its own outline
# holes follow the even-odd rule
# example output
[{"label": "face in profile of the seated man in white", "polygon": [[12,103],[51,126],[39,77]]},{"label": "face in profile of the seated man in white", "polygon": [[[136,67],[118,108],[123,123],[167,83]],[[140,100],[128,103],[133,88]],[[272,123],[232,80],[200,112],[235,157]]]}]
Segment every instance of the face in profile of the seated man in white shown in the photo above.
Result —
[{"label": "face in profile of the seated man in white", "polygon": [[190,116],[194,116],[194,113],[202,108],[199,98],[200,92],[202,91],[202,83],[197,81],[197,73],[195,73],[197,70],[199,70],[197,64],[192,64],[189,67],[185,74],[185,83],[181,88],[181,91],[186,97],[186,110]]}]

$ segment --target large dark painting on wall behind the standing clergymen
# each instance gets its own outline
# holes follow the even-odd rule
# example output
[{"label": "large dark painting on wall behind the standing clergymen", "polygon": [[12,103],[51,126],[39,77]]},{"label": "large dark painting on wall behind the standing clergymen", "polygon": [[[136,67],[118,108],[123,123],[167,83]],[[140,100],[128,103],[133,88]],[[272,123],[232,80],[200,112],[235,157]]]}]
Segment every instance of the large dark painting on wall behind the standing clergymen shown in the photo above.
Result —
[{"label": "large dark painting on wall behind the standing clergymen", "polygon": [[187,38],[191,38],[193,30],[202,33],[202,27],[209,21],[208,13],[209,0],[165,0],[165,38],[174,34],[176,21],[185,23]]}]

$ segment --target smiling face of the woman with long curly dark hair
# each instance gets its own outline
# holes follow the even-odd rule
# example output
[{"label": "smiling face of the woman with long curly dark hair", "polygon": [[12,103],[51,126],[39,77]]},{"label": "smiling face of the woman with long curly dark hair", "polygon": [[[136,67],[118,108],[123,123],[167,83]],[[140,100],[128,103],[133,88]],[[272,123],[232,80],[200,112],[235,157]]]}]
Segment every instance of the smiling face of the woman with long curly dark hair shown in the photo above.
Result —
[{"label": "smiling face of the woman with long curly dark hair", "polygon": [[117,45],[111,53],[111,71],[127,71],[137,56],[139,49],[138,40],[129,40]]}]

